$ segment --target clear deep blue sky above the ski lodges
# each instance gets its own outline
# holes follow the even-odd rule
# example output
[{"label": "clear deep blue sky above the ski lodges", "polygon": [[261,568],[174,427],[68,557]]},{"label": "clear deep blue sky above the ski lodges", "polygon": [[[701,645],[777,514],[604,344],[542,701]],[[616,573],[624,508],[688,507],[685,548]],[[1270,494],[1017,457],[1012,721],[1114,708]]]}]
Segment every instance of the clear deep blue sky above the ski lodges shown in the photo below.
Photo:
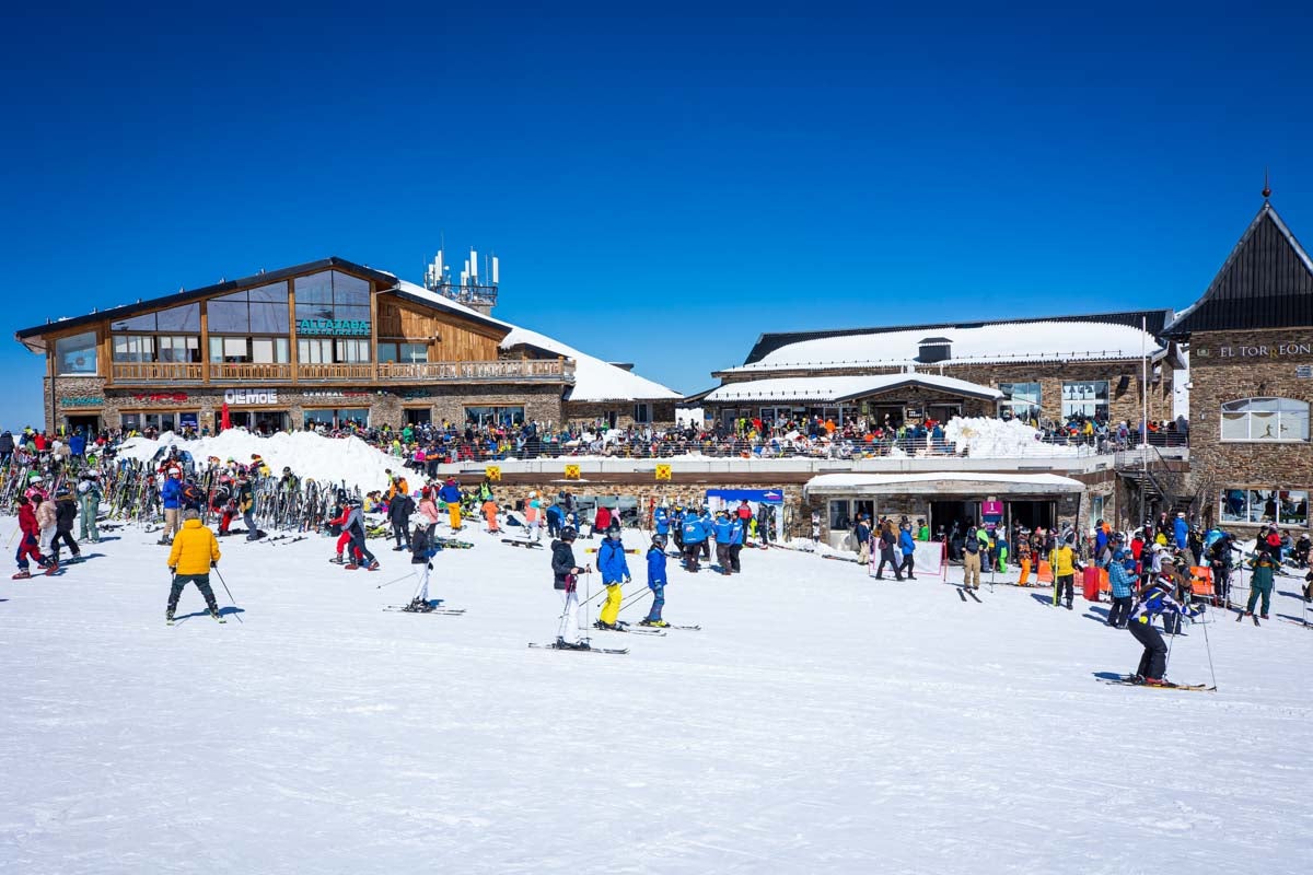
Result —
[{"label": "clear deep blue sky above the ski lodges", "polygon": [[[330,254],[419,281],[441,234],[502,256],[498,316],[685,392],[768,331],[1180,308],[1264,165],[1313,240],[1291,5],[12,13],[7,333]],[[37,421],[41,359],[0,367]]]}]

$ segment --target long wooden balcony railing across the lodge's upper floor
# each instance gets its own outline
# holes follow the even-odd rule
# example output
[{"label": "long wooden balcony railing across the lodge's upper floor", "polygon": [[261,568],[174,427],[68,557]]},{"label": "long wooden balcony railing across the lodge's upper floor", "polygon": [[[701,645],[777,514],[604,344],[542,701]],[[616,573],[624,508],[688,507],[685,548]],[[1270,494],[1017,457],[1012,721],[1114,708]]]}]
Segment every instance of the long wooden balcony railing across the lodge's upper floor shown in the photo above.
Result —
[{"label": "long wooden balcony railing across the lodge's upper floor", "polygon": [[293,371],[303,383],[461,383],[482,380],[574,382],[575,366],[569,359],[506,358],[488,362],[364,362],[355,365],[277,363],[171,363],[114,362],[114,384],[200,383],[209,374],[211,383],[290,383]]}]

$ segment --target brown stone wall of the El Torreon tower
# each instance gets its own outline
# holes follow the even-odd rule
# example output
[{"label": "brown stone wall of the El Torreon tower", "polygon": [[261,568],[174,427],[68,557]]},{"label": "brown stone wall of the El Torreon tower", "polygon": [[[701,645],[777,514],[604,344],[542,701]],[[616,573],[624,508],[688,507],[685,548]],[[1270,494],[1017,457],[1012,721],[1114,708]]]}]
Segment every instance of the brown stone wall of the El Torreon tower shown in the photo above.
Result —
[{"label": "brown stone wall of the El Torreon tower", "polygon": [[[1313,328],[1196,333],[1190,366],[1190,466],[1204,518],[1222,518],[1222,489],[1313,489],[1313,443],[1308,439],[1221,438],[1221,405],[1228,401],[1288,397],[1313,403]],[[1234,519],[1224,525],[1247,529]]]}]

